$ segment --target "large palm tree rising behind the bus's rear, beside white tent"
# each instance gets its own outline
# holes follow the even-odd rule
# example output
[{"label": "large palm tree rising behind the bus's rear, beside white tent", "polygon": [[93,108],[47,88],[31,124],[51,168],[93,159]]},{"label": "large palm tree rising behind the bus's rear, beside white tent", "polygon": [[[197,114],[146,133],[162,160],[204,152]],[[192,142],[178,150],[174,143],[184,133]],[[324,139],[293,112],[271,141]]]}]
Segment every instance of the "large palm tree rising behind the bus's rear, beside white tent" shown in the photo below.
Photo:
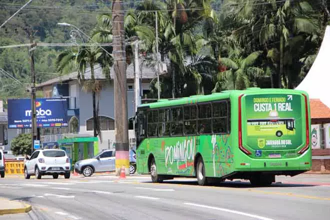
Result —
[{"label": "large palm tree rising behind the bus's rear, beside white tent", "polygon": [[[268,61],[263,62],[268,63],[265,68],[276,68],[272,71],[277,72],[277,86],[280,87],[283,80],[286,86],[291,87],[292,71],[288,73],[284,70],[292,69],[294,65],[292,66],[292,60],[286,55],[292,48],[304,46],[306,40],[297,39],[301,35],[310,40],[309,36],[317,33],[318,21],[312,6],[307,0],[236,0],[234,3],[234,20],[240,24],[234,31],[238,42],[245,46],[246,51],[263,50],[263,57],[268,57]],[[229,3],[226,7],[230,5],[234,6]],[[279,59],[276,59],[275,54]],[[296,52],[290,54],[299,56]],[[269,61],[276,63],[269,65]]]}]

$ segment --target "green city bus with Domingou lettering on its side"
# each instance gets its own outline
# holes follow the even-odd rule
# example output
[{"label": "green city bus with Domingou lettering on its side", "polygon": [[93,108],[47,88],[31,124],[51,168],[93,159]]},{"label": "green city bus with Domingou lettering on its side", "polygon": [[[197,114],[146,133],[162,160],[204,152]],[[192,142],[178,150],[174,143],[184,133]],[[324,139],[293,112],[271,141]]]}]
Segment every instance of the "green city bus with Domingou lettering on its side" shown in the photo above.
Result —
[{"label": "green city bus with Domingou lettering on its side", "polygon": [[205,185],[311,169],[308,94],[292,89],[226,90],[160,99],[136,112],[137,172],[152,182],[196,177]]}]

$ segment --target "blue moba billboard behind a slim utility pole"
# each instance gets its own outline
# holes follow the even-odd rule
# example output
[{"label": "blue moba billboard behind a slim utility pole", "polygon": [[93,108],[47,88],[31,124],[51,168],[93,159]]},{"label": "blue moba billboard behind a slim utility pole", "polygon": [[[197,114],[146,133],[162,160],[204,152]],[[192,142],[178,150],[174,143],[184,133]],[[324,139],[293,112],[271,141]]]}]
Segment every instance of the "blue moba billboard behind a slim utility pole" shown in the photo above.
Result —
[{"label": "blue moba billboard behind a slim utility pole", "polygon": [[[36,126],[67,126],[67,99],[37,98]],[[32,119],[31,99],[8,99],[8,128],[30,128]]]}]

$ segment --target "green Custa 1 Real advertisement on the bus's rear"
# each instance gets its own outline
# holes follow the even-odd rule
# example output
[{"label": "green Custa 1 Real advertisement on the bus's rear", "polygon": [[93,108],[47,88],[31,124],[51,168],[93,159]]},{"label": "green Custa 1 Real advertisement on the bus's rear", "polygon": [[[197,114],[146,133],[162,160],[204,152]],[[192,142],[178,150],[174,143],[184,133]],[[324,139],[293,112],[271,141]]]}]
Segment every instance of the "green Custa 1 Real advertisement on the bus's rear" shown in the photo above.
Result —
[{"label": "green Custa 1 Real advertisement on the bus's rear", "polygon": [[[295,149],[302,144],[301,95],[246,95],[246,143],[254,149]],[[244,122],[243,122],[244,123]]]}]

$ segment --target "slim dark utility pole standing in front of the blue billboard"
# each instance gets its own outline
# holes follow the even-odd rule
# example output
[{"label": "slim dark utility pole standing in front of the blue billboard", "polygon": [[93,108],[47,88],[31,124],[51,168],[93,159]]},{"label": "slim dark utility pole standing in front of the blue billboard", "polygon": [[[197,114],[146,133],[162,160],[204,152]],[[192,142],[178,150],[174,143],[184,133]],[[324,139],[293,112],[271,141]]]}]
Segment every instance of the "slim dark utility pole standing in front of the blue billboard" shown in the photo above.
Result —
[{"label": "slim dark utility pole standing in front of the blue billboard", "polygon": [[34,57],[33,57],[33,50],[35,49],[35,43],[33,42],[33,33],[32,31],[28,31],[28,37],[30,39],[30,49],[29,49],[29,53],[30,53],[30,68],[31,68],[31,110],[32,110],[32,118],[31,118],[31,128],[32,128],[32,149],[31,149],[31,153],[34,150],[34,140],[38,140],[40,139],[40,137],[38,137],[38,131],[36,128],[36,107],[35,107],[35,72],[34,72]]}]

